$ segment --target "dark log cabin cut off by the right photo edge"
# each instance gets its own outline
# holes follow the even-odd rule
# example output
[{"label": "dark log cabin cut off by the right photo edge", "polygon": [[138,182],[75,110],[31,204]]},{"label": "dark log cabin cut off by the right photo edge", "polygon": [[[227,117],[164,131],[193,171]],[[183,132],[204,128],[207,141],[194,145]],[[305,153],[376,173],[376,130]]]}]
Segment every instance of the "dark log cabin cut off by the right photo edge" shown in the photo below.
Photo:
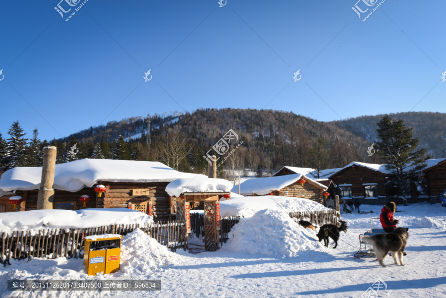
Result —
[{"label": "dark log cabin cut off by the right photo edge", "polygon": [[[440,203],[440,196],[446,189],[446,158],[429,160],[424,180],[427,184],[428,195],[436,197],[436,202]],[[429,162],[428,161],[428,162]]]}]

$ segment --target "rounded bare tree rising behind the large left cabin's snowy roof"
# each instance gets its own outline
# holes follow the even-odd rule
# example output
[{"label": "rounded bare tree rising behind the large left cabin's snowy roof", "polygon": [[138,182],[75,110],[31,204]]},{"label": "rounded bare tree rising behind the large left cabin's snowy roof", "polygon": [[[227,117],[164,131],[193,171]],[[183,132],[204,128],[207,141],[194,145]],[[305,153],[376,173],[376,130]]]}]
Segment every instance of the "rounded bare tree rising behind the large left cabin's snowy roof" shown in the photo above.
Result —
[{"label": "rounded bare tree rising behind the large left cabin's snowy roof", "polygon": [[189,138],[185,137],[179,126],[167,128],[154,145],[159,160],[178,171],[178,166],[192,150]]}]

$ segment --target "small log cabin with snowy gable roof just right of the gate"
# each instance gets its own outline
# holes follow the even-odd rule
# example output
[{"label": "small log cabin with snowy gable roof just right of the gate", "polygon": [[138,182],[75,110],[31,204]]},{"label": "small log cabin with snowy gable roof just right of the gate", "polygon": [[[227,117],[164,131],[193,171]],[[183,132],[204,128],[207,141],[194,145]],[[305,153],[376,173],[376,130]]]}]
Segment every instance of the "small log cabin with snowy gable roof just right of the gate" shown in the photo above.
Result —
[{"label": "small log cabin with snowy gable roof just right of the gate", "polygon": [[[299,183],[303,179],[304,183]],[[273,195],[306,198],[323,204],[323,195],[327,186],[302,174],[290,174],[279,177],[248,179],[240,183],[240,194],[258,196],[272,193]],[[231,190],[238,193],[238,184]]]}]

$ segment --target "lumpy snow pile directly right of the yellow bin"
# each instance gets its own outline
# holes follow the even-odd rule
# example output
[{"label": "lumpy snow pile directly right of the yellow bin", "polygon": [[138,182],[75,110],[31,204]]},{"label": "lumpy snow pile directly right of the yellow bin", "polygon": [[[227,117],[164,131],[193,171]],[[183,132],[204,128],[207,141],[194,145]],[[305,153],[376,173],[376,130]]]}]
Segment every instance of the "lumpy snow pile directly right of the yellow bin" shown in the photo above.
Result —
[{"label": "lumpy snow pile directly right of the yellow bin", "polygon": [[121,240],[121,270],[118,276],[148,274],[159,267],[173,266],[181,262],[181,256],[171,252],[154,238],[136,229]]}]

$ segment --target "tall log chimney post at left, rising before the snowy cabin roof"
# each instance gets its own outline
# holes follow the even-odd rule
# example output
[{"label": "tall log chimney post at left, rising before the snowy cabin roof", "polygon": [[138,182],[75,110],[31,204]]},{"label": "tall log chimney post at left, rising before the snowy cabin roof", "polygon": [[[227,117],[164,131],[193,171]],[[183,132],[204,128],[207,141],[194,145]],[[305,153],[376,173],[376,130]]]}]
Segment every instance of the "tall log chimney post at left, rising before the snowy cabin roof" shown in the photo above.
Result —
[{"label": "tall log chimney post at left, rising before the snowy cabin roof", "polygon": [[54,146],[44,147],[42,164],[42,180],[39,193],[37,194],[37,209],[53,209],[54,203],[54,170],[56,168],[57,148]]}]

